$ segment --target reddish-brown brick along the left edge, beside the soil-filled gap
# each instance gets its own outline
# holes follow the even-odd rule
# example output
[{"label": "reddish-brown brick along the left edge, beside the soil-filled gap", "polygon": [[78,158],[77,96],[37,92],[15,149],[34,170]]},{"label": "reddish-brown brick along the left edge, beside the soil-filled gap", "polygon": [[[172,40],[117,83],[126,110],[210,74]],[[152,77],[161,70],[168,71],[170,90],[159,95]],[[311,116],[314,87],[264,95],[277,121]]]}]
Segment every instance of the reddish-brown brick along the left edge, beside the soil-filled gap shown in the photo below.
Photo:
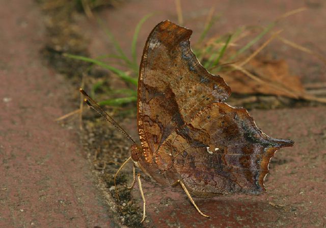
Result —
[{"label": "reddish-brown brick along the left edge, beside the soil-filled gap", "polygon": [[68,87],[41,64],[36,3],[1,5],[0,227],[116,226],[75,131],[54,121]]}]

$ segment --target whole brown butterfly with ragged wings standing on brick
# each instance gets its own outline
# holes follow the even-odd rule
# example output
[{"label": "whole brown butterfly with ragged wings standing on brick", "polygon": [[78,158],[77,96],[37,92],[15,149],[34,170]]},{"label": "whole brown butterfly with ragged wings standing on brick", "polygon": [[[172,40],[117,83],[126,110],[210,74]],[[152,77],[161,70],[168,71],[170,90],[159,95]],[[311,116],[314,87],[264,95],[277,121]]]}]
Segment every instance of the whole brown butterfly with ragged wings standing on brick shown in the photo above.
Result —
[{"label": "whole brown butterfly with ragged wings standing on brick", "polygon": [[[125,163],[133,160],[162,186],[181,185],[198,212],[208,217],[191,195],[265,191],[270,158],[293,141],[267,136],[246,109],[223,102],[231,89],[222,77],[208,73],[198,62],[190,47],[191,34],[167,20],[157,24],[146,41],[138,84],[141,145],[80,91],[91,107],[132,141],[131,156]],[[139,174],[138,183],[144,221]]]}]

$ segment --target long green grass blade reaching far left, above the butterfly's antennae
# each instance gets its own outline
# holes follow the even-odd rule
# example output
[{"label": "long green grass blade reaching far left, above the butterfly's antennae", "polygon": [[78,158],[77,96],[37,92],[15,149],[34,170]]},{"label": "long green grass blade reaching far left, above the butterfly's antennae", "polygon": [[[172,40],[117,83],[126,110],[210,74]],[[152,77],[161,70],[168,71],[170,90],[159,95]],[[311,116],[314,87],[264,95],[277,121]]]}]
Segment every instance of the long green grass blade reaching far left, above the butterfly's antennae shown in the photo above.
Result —
[{"label": "long green grass blade reaching far left, above the butterfly's antennae", "polygon": [[88,57],[85,57],[85,56],[80,56],[80,55],[67,54],[67,53],[64,53],[63,55],[68,57],[68,58],[71,58],[71,59],[82,60],[82,61],[85,61],[85,62],[88,62],[88,63],[96,64],[96,65],[98,65],[100,67],[103,67],[103,68],[105,68],[107,70],[110,70],[113,73],[117,74],[122,80],[124,80],[126,82],[130,82],[131,84],[134,84],[135,86],[137,86],[137,84],[138,84],[138,79],[130,77],[129,75],[127,75],[122,70],[119,70],[119,69],[117,69],[115,67],[107,65],[104,62],[101,62],[101,61],[98,61],[98,60],[95,60],[95,59],[91,59],[91,58],[88,58]]}]

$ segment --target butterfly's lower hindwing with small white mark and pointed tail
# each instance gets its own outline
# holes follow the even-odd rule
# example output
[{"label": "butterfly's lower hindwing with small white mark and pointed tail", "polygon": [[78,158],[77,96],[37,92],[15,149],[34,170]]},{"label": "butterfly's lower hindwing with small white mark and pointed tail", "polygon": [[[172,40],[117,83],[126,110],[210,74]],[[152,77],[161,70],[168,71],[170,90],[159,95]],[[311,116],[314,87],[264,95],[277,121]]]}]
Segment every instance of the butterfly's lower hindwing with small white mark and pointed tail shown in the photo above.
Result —
[{"label": "butterfly's lower hindwing with small white mark and pointed tail", "polygon": [[258,194],[265,190],[270,158],[292,145],[292,140],[264,134],[246,109],[214,103],[176,129],[160,147],[156,161],[170,182],[183,180],[196,196]]}]

